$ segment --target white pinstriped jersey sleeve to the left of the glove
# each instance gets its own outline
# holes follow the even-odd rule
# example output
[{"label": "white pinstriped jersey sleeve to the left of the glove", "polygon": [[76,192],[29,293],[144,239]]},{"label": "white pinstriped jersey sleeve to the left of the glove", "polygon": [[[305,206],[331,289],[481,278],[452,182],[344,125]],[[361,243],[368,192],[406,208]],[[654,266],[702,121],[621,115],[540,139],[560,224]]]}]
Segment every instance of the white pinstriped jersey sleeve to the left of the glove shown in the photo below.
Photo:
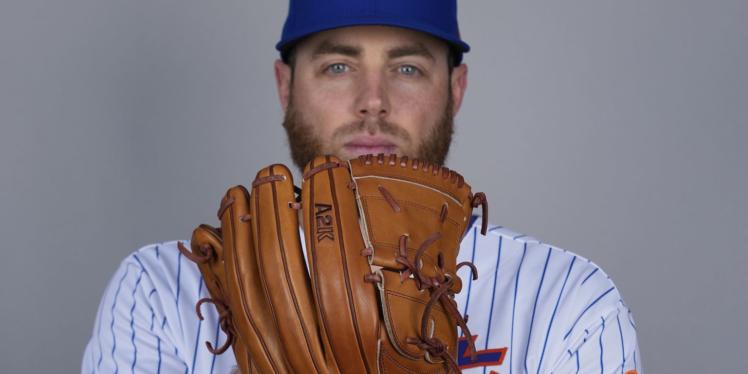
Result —
[{"label": "white pinstriped jersey sleeve to the left of the glove", "polygon": [[202,308],[205,319],[197,318],[203,297],[209,295],[197,266],[176,242],[141,248],[105,289],[81,373],[230,373],[233,352],[206,349],[206,341],[221,346],[226,337],[210,304]]}]

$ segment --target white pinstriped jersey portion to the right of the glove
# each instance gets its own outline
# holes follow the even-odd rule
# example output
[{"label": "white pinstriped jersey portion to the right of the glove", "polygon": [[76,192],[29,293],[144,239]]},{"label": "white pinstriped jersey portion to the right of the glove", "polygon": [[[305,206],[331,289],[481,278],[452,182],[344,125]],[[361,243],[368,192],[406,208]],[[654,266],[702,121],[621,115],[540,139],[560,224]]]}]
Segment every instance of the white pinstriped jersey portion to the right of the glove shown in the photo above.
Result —
[{"label": "white pinstriped jersey portion to the right of the glove", "polygon": [[473,227],[460,261],[478,268],[455,300],[478,360],[464,373],[642,374],[637,331],[619,289],[589,260],[503,227]]}]

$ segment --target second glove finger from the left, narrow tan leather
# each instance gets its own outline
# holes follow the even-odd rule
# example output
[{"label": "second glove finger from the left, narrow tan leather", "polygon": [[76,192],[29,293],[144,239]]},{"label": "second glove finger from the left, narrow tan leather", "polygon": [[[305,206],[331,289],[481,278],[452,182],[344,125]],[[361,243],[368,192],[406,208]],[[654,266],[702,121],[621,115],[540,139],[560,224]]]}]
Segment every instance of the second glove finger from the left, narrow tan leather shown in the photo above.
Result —
[{"label": "second glove finger from the left, narrow tan leather", "polygon": [[269,304],[257,270],[246,188],[227,191],[221,207],[228,297],[237,334],[236,362],[245,373],[252,365],[260,373],[288,373],[275,328],[266,319]]}]

